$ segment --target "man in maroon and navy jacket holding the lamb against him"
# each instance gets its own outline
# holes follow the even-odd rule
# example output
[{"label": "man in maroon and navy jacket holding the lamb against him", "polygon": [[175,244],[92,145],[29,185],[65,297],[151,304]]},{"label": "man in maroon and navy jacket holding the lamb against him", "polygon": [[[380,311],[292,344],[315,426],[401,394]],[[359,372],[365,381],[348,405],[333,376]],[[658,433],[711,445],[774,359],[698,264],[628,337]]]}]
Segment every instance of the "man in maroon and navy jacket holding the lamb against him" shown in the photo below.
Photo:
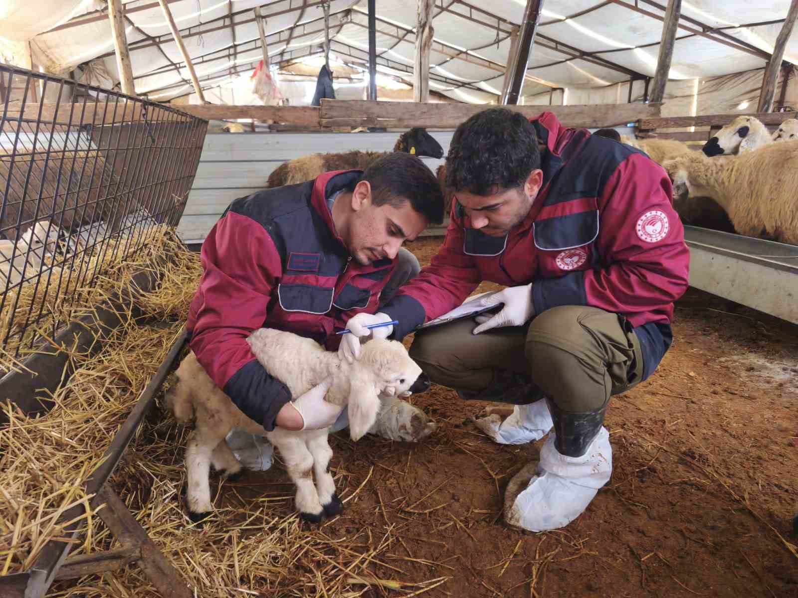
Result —
[{"label": "man in maroon and navy jacket holding the lamb against him", "polygon": [[329,427],[341,412],[323,400],[329,387],[292,397],[255,360],[247,336],[275,328],[338,348],[335,332],[350,317],[374,313],[418,273],[402,243],[442,219],[435,175],[402,152],[365,172],[327,172],[236,199],[203,242],[204,272],[187,324],[192,351],[267,431]]}]

